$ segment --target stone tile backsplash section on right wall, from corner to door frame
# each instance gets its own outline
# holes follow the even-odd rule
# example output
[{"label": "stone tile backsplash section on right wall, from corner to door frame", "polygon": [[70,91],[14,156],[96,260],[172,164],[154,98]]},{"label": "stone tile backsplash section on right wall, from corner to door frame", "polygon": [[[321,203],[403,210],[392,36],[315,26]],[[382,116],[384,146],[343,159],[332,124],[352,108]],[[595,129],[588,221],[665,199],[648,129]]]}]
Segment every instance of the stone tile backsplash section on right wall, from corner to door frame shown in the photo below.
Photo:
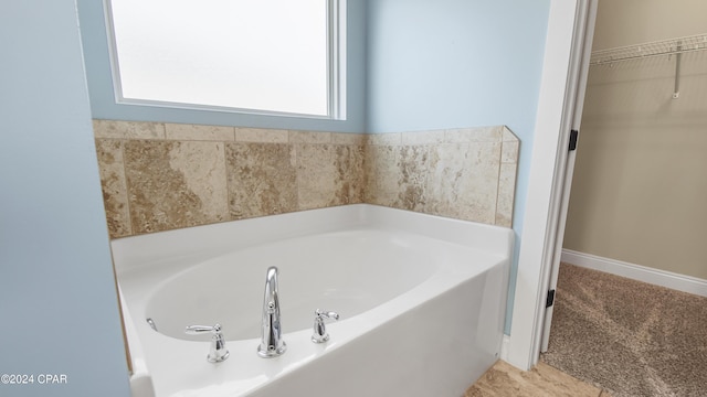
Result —
[{"label": "stone tile backsplash section on right wall, from corner to door frame", "polygon": [[503,126],[371,136],[363,201],[510,226],[517,158]]}]

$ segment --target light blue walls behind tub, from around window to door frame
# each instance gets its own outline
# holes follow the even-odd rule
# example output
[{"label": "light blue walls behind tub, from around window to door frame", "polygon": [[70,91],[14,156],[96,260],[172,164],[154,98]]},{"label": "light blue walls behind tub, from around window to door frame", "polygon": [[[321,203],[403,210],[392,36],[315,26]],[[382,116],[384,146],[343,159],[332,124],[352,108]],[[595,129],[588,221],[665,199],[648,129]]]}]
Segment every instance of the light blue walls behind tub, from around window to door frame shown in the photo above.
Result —
[{"label": "light blue walls behind tub, from around window to door frame", "polygon": [[521,141],[509,333],[550,0],[349,0],[346,121],[116,105],[102,4],[78,0],[94,118],[371,133],[507,125]]}]

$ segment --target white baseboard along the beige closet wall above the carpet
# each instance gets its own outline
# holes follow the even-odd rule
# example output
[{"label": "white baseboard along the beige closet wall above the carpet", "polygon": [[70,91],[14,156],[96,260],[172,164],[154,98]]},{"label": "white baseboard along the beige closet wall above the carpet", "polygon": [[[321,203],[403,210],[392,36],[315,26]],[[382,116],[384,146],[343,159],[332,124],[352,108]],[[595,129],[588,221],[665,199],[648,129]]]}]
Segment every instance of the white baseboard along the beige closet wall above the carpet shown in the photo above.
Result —
[{"label": "white baseboard along the beige closet wall above the carpet", "polygon": [[671,271],[648,268],[621,260],[603,258],[591,254],[562,249],[562,261],[588,269],[647,282],[654,286],[707,297],[707,280],[678,275]]}]

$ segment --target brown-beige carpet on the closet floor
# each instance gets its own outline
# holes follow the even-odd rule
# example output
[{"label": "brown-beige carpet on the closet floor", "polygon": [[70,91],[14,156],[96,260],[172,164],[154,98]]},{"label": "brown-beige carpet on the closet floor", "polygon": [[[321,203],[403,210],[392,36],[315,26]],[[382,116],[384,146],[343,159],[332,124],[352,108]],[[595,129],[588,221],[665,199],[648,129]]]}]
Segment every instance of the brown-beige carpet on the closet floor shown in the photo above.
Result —
[{"label": "brown-beige carpet on the closet floor", "polygon": [[707,298],[562,264],[545,363],[613,396],[707,396]]}]

